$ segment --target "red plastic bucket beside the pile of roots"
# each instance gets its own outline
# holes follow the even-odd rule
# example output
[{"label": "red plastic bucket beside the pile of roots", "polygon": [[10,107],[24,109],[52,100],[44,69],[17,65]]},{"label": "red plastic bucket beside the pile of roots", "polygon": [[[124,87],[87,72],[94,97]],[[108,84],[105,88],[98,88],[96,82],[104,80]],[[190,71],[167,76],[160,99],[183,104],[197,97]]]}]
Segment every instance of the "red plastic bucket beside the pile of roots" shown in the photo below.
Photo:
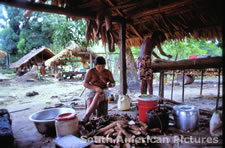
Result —
[{"label": "red plastic bucket beside the pile of roots", "polygon": [[147,123],[147,111],[157,108],[158,100],[138,99],[139,120]]}]

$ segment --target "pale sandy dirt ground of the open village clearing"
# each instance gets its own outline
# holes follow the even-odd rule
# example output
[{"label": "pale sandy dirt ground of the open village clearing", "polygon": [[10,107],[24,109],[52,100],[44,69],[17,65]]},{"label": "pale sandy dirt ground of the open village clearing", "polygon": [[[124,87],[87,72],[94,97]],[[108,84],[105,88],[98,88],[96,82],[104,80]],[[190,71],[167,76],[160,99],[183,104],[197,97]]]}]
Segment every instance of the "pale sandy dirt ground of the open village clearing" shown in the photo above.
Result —
[{"label": "pale sandy dirt ground of the open village clearing", "polygon": [[[19,148],[51,148],[55,147],[52,138],[39,134],[34,124],[28,117],[46,107],[54,107],[55,104],[70,106],[77,103],[81,109],[77,109],[78,118],[81,119],[84,113],[84,97],[79,97],[83,86],[82,81],[58,81],[54,78],[46,77],[41,81],[26,82],[10,79],[9,75],[4,75],[0,80],[0,108],[6,108],[12,118],[12,129],[15,138],[15,147]],[[195,80],[191,85],[185,85],[185,104],[193,104],[201,109],[213,110],[216,106],[217,98],[217,77],[210,77],[204,80],[203,96],[200,97],[200,80]],[[176,81],[175,81],[176,82]],[[39,94],[28,97],[27,92],[36,91]],[[221,90],[222,92],[222,86]],[[119,94],[119,83],[112,89],[112,94]],[[154,81],[154,95],[158,95],[158,82]],[[171,98],[171,81],[165,85],[165,98]],[[182,101],[182,87],[174,86],[173,100]],[[135,102],[140,95],[137,92],[128,91],[128,95]],[[222,94],[220,94],[222,96]],[[75,101],[74,101],[75,100]],[[222,104],[222,99],[220,99]],[[82,109],[83,108],[83,109]],[[109,105],[109,113],[118,113],[117,104]]]}]

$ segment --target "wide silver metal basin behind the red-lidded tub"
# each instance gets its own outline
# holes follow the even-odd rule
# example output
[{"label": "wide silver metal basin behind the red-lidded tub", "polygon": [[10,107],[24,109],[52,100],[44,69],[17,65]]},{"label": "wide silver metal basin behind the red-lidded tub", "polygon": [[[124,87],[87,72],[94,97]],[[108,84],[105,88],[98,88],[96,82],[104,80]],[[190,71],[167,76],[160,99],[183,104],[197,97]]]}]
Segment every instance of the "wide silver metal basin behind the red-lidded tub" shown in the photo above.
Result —
[{"label": "wide silver metal basin behind the red-lidded tub", "polygon": [[63,113],[75,113],[75,110],[72,108],[47,109],[33,113],[29,116],[29,119],[33,121],[39,133],[55,136],[55,118]]}]

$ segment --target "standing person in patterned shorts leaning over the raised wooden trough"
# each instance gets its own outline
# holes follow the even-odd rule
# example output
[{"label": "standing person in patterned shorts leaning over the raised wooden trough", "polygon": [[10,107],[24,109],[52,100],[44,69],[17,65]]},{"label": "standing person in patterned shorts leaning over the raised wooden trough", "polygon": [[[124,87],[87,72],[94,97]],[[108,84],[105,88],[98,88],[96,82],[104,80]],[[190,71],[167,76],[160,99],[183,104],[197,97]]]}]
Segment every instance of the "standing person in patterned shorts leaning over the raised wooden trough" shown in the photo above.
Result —
[{"label": "standing person in patterned shorts leaning over the raised wooden trough", "polygon": [[140,70],[141,79],[141,94],[147,94],[147,87],[149,94],[153,94],[153,73],[151,69],[152,55],[156,58],[160,58],[153,49],[155,46],[159,49],[163,56],[171,58],[171,55],[167,55],[161,48],[161,43],[166,40],[164,33],[161,31],[155,31],[151,38],[147,38],[141,45],[140,56],[137,59],[137,67]]}]

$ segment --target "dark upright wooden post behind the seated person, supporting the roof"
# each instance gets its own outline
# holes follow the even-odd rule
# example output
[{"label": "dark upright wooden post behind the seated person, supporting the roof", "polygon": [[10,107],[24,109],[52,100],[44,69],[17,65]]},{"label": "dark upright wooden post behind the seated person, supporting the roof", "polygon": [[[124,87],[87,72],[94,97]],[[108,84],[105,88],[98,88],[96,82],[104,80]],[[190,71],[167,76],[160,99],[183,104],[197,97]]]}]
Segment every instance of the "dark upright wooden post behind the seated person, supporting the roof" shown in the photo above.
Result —
[{"label": "dark upright wooden post behind the seated person, supporting the roof", "polygon": [[127,74],[126,74],[126,22],[120,24],[120,93],[127,93]]}]

